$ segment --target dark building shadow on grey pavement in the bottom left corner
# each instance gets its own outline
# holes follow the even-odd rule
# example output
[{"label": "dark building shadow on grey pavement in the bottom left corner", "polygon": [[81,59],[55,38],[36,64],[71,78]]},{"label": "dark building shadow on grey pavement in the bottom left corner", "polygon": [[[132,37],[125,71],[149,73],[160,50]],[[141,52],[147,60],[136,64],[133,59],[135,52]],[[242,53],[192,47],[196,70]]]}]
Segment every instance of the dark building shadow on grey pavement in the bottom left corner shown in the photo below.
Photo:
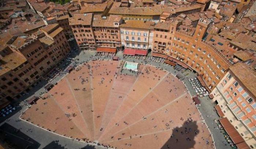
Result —
[{"label": "dark building shadow on grey pavement in the bottom left corner", "polygon": [[1,141],[15,149],[38,149],[40,144],[8,123],[0,126]]}]

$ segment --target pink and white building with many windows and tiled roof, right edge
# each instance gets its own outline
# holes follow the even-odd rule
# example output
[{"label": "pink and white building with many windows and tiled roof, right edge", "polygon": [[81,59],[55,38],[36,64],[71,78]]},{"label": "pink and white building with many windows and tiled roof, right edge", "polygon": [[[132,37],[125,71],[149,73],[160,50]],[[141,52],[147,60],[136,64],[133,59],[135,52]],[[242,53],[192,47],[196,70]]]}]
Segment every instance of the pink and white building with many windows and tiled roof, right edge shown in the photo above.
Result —
[{"label": "pink and white building with many windows and tiled roof, right edge", "polygon": [[223,117],[220,123],[237,147],[256,148],[255,68],[245,63],[234,64],[212,95],[217,103],[215,109]]}]

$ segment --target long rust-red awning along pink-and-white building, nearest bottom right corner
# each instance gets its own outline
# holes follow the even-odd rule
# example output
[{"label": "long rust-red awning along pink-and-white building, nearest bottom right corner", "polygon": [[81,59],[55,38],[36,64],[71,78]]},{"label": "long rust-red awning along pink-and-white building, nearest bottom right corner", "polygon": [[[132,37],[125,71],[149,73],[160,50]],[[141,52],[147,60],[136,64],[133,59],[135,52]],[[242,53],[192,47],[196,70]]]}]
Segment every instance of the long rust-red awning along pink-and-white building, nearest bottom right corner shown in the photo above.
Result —
[{"label": "long rust-red awning along pink-and-white building, nearest bottom right corner", "polygon": [[227,134],[229,134],[229,137],[231,140],[233,140],[234,144],[239,149],[250,149],[250,147],[245,143],[244,139],[240,136],[240,134],[237,132],[237,130],[234,128],[234,126],[229,122],[229,120],[225,117],[222,119],[219,119],[219,122],[223,126],[223,128],[226,130]]}]

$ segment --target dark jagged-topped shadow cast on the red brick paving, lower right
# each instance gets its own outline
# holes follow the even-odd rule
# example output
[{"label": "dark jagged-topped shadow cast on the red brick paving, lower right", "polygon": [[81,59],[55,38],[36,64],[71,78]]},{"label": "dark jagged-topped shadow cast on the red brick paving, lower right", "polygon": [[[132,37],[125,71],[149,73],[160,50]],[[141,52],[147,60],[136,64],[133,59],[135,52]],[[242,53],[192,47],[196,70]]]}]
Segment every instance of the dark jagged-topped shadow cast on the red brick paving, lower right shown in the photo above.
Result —
[{"label": "dark jagged-topped shadow cast on the red brick paving, lower right", "polygon": [[161,149],[191,149],[194,148],[196,141],[194,137],[199,133],[196,121],[185,121],[181,127],[172,129],[169,140]]}]

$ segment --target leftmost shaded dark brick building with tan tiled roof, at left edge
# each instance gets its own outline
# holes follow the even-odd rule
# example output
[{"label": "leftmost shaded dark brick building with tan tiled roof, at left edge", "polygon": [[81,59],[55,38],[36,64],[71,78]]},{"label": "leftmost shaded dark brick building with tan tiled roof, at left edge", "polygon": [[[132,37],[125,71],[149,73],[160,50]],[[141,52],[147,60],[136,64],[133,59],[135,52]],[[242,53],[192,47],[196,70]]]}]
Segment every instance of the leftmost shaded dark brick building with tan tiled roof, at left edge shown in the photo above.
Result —
[{"label": "leftmost shaded dark brick building with tan tiled roof, at left edge", "polygon": [[0,68],[0,107],[19,98],[19,93],[40,78],[38,72],[19,52],[13,51],[1,58]]}]

